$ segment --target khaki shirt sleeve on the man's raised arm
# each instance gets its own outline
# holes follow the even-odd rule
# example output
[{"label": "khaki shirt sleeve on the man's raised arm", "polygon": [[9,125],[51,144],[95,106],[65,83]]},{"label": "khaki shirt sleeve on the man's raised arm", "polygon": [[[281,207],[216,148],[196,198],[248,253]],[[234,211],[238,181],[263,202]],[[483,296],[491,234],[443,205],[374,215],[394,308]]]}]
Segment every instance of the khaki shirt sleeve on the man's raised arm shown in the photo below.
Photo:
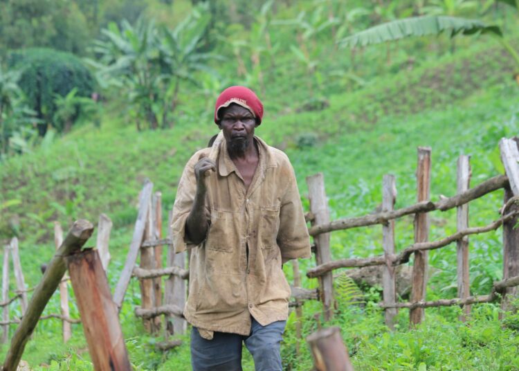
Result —
[{"label": "khaki shirt sleeve on the man's raised arm", "polygon": [[194,177],[193,169],[197,159],[198,156],[195,154],[190,161],[188,161],[187,165],[185,165],[182,177],[179,181],[179,187],[176,190],[171,225],[175,253],[181,253],[186,249],[198,246],[191,242],[185,235],[185,221],[188,219],[193,206],[194,194],[197,192],[197,180]]}]

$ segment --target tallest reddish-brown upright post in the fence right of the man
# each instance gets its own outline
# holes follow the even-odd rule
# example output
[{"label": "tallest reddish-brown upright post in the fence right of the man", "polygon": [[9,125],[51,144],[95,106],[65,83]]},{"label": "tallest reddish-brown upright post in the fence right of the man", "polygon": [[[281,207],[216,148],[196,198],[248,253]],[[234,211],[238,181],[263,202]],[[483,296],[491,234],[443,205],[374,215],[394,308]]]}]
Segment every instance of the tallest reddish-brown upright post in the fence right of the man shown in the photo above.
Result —
[{"label": "tallest reddish-brown upright post in the fence right of the man", "polygon": [[[430,147],[418,147],[417,193],[418,201],[430,199]],[[426,212],[415,215],[415,242],[429,239],[429,216]],[[417,251],[412,266],[411,301],[418,302],[426,298],[428,270],[428,251]],[[410,325],[417,325],[424,319],[424,308],[411,309]]]}]

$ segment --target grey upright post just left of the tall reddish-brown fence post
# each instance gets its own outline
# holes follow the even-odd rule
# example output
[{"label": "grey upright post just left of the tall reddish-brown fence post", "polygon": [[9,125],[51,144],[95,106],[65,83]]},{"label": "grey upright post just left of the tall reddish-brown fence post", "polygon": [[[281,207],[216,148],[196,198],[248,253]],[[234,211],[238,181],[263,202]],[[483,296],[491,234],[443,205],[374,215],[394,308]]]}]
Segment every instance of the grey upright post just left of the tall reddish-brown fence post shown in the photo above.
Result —
[{"label": "grey upright post just left of the tall reddish-brown fence post", "polygon": [[[394,202],[397,199],[397,187],[394,181],[394,175],[385,174],[382,186],[382,210],[394,210]],[[386,264],[382,271],[382,287],[384,303],[393,305],[397,301],[397,289],[395,280],[395,269],[392,265],[390,257],[394,255],[394,220],[388,221],[382,226],[382,245]],[[398,313],[397,308],[386,308],[384,311],[385,324],[394,329],[394,316]]]}]

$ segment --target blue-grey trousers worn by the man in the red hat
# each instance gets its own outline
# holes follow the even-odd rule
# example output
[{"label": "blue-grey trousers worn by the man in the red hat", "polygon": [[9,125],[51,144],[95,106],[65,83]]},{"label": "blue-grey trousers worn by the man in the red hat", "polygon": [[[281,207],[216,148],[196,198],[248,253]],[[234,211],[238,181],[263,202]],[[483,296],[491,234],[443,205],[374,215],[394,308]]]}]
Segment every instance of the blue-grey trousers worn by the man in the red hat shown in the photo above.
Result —
[{"label": "blue-grey trousers worn by the man in the red hat", "polygon": [[202,338],[197,327],[191,330],[193,371],[241,371],[242,344],[254,359],[256,371],[281,371],[280,343],[286,321],[262,326],[252,318],[251,334],[242,336],[215,332],[212,340]]}]

